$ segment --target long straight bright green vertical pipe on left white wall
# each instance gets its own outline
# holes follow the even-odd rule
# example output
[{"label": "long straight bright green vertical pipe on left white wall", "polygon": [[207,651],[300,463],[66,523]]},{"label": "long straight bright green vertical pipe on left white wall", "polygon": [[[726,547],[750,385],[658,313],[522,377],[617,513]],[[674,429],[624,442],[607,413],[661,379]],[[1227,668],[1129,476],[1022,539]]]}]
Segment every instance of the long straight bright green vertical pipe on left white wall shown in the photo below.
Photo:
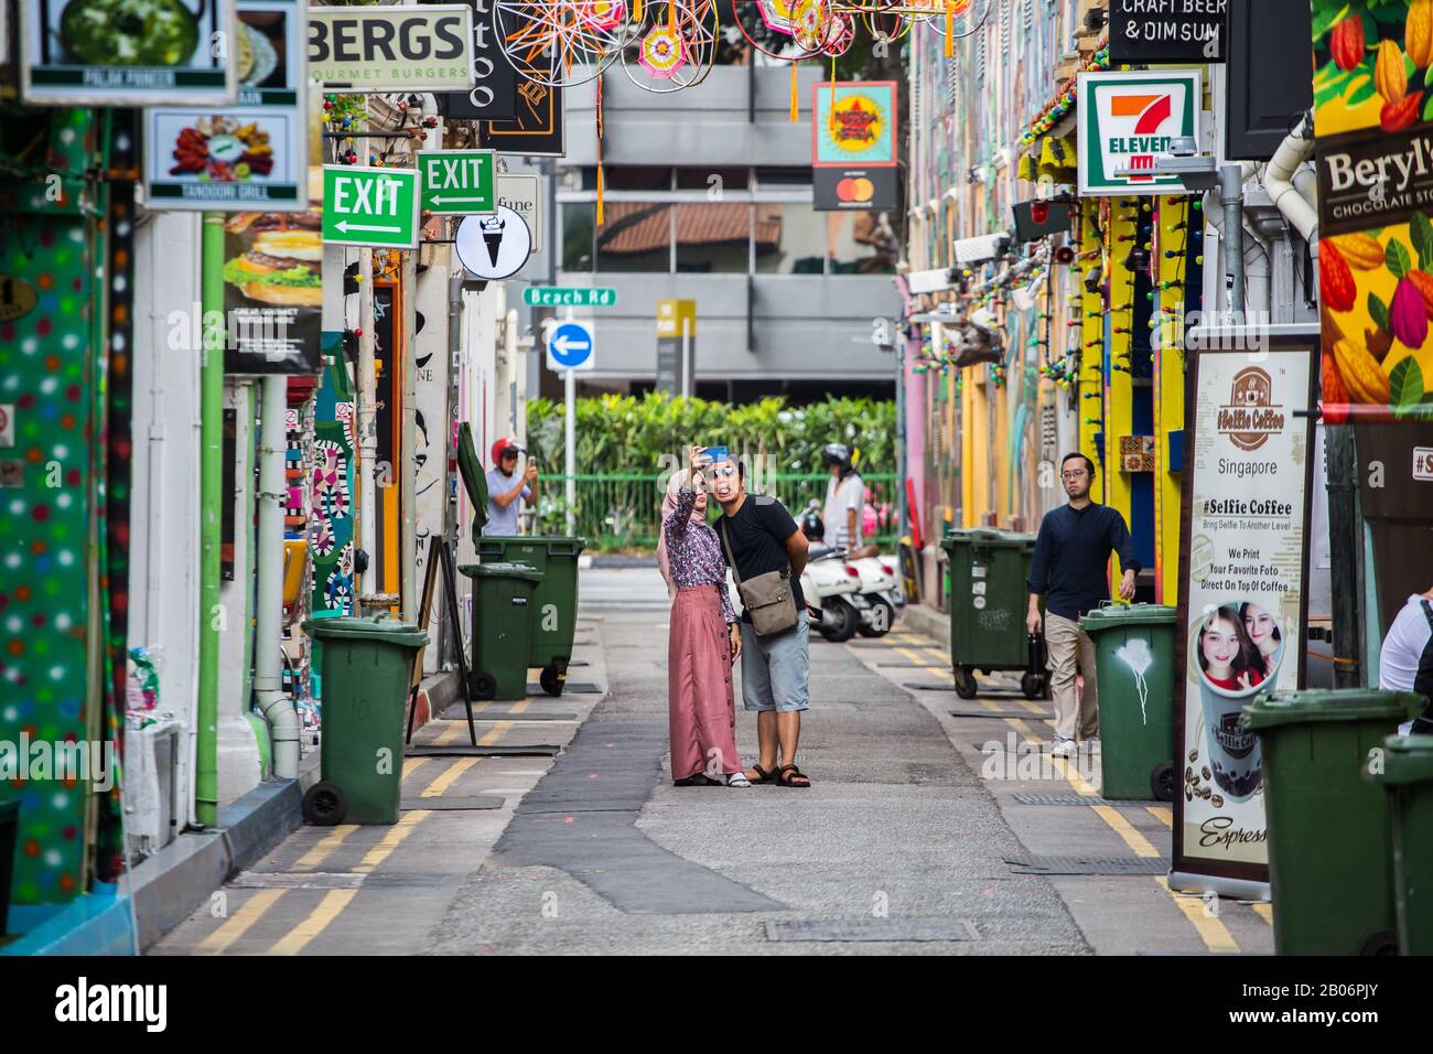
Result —
[{"label": "long straight bright green vertical pipe on left white wall", "polygon": [[201,307],[203,367],[199,374],[199,730],[195,816],[219,822],[219,542],[224,522],[224,214],[203,214]]}]

